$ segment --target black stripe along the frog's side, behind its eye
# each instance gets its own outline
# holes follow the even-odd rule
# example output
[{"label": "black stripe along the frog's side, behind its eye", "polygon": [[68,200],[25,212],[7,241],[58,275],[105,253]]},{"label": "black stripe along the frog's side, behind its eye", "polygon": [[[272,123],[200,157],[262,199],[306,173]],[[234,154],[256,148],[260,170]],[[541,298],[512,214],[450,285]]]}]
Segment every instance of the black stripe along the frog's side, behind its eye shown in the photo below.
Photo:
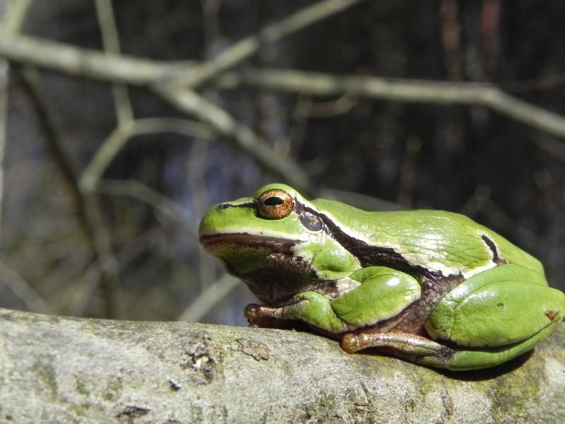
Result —
[{"label": "black stripe along the frog's side, behind its eye", "polygon": [[302,210],[313,213],[320,218],[324,223],[323,230],[337,240],[338,243],[345,247],[351,254],[355,255],[364,265],[393,265],[398,269],[404,269],[408,272],[412,271],[432,280],[444,277],[441,271],[430,271],[423,266],[411,265],[401,254],[395,252],[391,247],[371,246],[363,240],[351,237],[346,232],[343,232],[331,218],[323,213],[314,211],[312,208],[304,205],[300,205],[300,207]]}]

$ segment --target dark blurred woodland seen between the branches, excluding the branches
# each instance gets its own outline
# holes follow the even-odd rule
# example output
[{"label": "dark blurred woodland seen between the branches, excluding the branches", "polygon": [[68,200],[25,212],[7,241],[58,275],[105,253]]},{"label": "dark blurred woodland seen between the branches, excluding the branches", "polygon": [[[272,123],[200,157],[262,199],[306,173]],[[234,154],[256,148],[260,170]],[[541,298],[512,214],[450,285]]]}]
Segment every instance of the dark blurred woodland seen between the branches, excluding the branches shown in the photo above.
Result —
[{"label": "dark blurred woodland seen between the branches, excluding the branches", "polygon": [[[160,61],[210,59],[314,3],[112,2],[121,52]],[[565,114],[564,21],[565,4],[557,0],[364,1],[262,47],[235,71],[269,67],[490,83]],[[23,33],[102,49],[93,1],[35,1]],[[112,88],[64,73],[40,73],[62,146],[80,174],[117,124]],[[200,305],[203,312],[192,319],[244,322],[242,307],[252,298],[242,284],[219,283],[218,290],[201,296],[222,271],[201,252],[194,228],[210,205],[248,196],[266,182],[283,180],[280,175],[258,165],[229,137],[133,137],[103,177],[142,183],[174,204],[148,203],[133,189],[142,186],[117,193],[117,186],[108,184],[106,192],[97,192],[118,264],[107,290],[80,208],[16,67],[7,90],[0,307],[178,319],[186,308]],[[314,182],[314,192],[340,190],[338,198],[347,201],[350,193],[363,194],[354,201],[366,207],[374,204],[371,196],[398,207],[466,213],[539,257],[550,284],[565,288],[562,139],[478,105],[393,102],[349,93],[313,98],[213,84],[198,92],[298,163]],[[184,117],[146,88],[130,88],[129,97],[138,118]],[[176,212],[167,213],[171,209]]]}]

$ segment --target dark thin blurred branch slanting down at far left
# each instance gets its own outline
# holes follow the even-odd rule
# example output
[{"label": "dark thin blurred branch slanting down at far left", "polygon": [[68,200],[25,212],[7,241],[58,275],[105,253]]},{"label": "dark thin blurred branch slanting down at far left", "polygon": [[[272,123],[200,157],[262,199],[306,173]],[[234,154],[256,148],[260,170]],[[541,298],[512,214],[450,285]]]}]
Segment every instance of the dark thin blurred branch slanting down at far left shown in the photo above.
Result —
[{"label": "dark thin blurred branch slanting down at far left", "polygon": [[100,205],[95,196],[81,191],[78,185],[77,173],[73,168],[71,158],[66,153],[61,141],[62,131],[55,116],[47,95],[44,93],[40,74],[34,69],[25,68],[20,71],[20,76],[32,98],[45,131],[45,141],[59,170],[71,188],[73,200],[78,206],[79,217],[88,236],[90,246],[100,262],[102,270],[101,287],[105,298],[106,317],[119,316],[119,302],[115,299],[115,291],[119,285],[119,264],[112,252],[109,233],[100,213]]}]

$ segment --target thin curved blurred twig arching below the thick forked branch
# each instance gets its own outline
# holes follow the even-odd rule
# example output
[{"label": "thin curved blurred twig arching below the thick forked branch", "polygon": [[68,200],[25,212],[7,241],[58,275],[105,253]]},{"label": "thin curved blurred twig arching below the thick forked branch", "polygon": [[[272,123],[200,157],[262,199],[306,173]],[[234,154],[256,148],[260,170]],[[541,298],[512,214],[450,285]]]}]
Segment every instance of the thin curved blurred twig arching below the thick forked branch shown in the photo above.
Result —
[{"label": "thin curved blurred twig arching below the thick forked branch", "polygon": [[189,119],[144,118],[117,126],[102,142],[90,163],[85,167],[80,179],[81,189],[85,192],[93,192],[108,165],[134,136],[159,133],[181,134],[207,140],[217,135],[210,126]]}]

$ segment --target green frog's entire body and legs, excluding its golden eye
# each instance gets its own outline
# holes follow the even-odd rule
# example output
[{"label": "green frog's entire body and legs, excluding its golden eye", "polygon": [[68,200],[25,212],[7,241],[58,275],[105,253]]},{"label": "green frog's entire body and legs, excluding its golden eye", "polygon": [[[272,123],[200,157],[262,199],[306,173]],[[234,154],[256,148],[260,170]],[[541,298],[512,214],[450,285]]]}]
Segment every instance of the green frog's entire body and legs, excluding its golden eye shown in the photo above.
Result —
[{"label": "green frog's entire body and legs, excluding its golden eye", "polygon": [[[287,216],[258,212],[271,189],[292,196]],[[377,347],[449,370],[491,367],[532,349],[565,311],[540,261],[457,213],[368,212],[269,184],[211,208],[199,233],[263,302],[246,307],[251,325],[297,320],[350,353]]]}]

